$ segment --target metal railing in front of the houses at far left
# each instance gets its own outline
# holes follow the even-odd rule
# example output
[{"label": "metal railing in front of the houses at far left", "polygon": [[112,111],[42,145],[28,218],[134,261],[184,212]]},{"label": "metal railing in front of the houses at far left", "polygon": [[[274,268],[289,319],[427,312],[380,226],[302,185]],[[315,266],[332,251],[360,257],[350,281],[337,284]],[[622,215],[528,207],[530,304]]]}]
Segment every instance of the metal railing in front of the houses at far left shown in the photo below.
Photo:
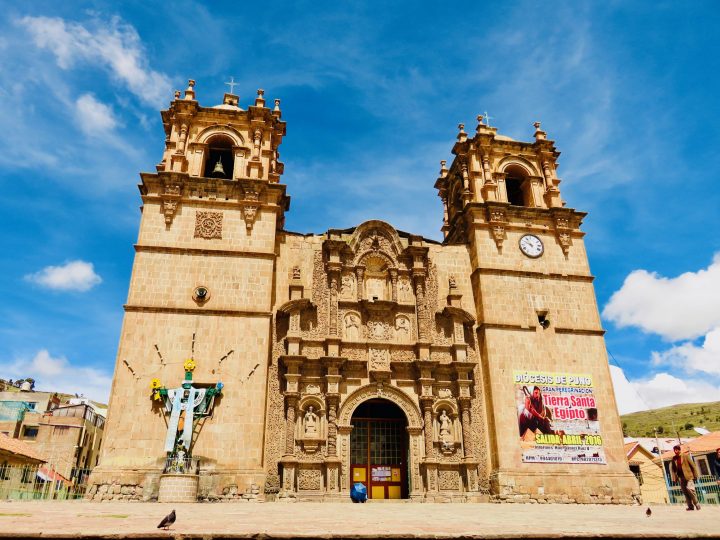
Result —
[{"label": "metal railing in front of the houses at far left", "polygon": [[48,465],[0,465],[0,500],[81,499],[90,470],[66,478]]}]

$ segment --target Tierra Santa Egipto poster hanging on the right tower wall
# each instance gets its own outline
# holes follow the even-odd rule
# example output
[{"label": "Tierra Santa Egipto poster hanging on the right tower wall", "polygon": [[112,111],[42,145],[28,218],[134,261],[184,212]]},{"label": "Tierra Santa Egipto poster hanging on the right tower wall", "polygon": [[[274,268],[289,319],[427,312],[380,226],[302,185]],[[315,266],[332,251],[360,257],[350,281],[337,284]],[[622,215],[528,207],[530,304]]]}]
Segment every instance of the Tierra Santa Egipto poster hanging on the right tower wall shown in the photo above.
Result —
[{"label": "Tierra Santa Egipto poster hanging on the right tower wall", "polygon": [[605,464],[590,375],[513,372],[524,463]]}]

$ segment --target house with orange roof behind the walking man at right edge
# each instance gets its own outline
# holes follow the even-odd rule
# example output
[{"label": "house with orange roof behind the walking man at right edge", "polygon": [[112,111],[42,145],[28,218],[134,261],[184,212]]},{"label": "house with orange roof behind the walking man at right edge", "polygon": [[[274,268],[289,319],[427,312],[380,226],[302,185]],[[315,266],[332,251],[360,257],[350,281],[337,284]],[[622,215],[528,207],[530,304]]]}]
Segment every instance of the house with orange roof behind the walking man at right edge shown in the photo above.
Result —
[{"label": "house with orange roof behind the walking man at right edge", "polygon": [[[698,468],[700,475],[695,482],[698,499],[700,503],[720,504],[720,462],[718,462],[717,449],[720,448],[720,431],[713,431],[702,437],[695,437],[681,445],[682,452],[689,452]],[[673,458],[673,451],[663,452],[660,459],[670,475],[670,465]],[[682,504],[685,501],[680,486],[670,483],[668,489],[670,502]]]}]

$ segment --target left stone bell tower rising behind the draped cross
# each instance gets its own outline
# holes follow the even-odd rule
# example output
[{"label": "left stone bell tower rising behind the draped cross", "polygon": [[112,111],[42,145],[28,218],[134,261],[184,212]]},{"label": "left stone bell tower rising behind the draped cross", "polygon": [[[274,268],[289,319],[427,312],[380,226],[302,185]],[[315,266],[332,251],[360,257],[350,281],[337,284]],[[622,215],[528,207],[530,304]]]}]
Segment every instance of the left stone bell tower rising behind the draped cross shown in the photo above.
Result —
[{"label": "left stone bell tower rising behind the draped cross", "polygon": [[263,485],[276,232],[289,208],[280,100],[269,108],[263,94],[247,109],[234,94],[203,107],[191,80],[162,111],[165,150],[157,171],[141,174],[140,232],[90,497],[120,485],[128,498],[157,496],[167,426],[151,384],[178,386],[188,359],[199,389],[224,383],[212,416],[194,428],[199,495]]}]

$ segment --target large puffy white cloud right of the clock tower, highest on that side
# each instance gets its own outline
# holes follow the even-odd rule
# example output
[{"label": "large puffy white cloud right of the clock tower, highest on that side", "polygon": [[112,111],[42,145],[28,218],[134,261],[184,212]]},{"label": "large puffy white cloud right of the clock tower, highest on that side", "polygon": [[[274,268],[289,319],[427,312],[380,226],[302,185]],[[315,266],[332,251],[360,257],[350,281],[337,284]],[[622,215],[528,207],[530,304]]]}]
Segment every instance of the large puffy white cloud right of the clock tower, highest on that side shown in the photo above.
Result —
[{"label": "large puffy white cloud right of the clock tower, highest on that side", "polygon": [[635,270],[603,309],[619,327],[678,341],[694,339],[720,326],[720,253],[712,264],[674,278]]}]

